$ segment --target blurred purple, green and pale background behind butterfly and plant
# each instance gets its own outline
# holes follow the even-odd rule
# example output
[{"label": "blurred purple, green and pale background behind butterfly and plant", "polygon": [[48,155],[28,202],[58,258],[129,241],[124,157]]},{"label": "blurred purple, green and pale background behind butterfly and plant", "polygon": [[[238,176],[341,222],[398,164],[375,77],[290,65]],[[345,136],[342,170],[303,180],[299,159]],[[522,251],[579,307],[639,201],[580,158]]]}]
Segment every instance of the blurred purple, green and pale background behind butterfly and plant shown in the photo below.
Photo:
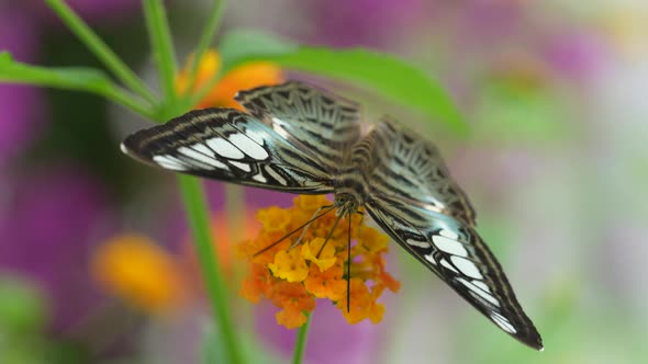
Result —
[{"label": "blurred purple, green and pale background behind butterfly and plant", "polygon": [[[68,3],[154,78],[139,1]],[[168,4],[185,61],[211,2]],[[222,32],[234,27],[389,52],[446,86],[468,137],[346,94],[439,145],[546,345],[517,343],[394,246],[402,288],[383,321],[348,326],[319,308],[308,363],[648,362],[648,2],[237,0]],[[101,67],[41,1],[2,1],[0,50]],[[174,175],[119,151],[146,125],[94,95],[0,84],[0,363],[209,362],[214,333]],[[255,211],[293,196],[246,190],[250,217],[227,234],[225,189],[208,186],[234,293],[232,236],[254,236]],[[245,340],[286,362],[294,332],[275,309],[232,299]]]}]

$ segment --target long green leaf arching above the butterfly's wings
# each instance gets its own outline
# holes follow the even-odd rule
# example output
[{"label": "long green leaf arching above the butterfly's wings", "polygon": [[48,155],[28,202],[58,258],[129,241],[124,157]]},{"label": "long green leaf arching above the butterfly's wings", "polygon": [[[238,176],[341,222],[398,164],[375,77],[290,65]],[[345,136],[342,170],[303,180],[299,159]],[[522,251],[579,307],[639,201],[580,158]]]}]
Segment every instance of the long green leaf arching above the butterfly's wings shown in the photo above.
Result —
[{"label": "long green leaf arching above the butterfly's wings", "polygon": [[395,103],[440,118],[457,134],[467,124],[440,83],[422,69],[393,56],[362,49],[298,46],[268,34],[235,31],[222,41],[224,71],[245,61],[269,60],[283,68],[357,84]]}]

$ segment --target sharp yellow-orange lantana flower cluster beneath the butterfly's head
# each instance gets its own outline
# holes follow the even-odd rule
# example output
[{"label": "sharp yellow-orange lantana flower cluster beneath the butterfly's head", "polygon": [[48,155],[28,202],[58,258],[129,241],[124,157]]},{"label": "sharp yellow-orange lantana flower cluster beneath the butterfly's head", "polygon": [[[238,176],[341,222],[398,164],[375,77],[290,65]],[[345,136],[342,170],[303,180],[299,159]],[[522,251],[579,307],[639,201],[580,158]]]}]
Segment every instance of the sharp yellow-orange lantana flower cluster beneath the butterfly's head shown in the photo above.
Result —
[{"label": "sharp yellow-orange lantana flower cluster beneath the butterfly's head", "polygon": [[241,295],[255,304],[267,298],[281,308],[276,315],[277,323],[286,328],[294,329],[305,323],[306,314],[315,308],[316,298],[332,302],[349,323],[358,323],[365,319],[378,323],[382,319],[384,306],[377,303],[377,299],[384,288],[394,293],[400,288],[400,283],[384,269],[383,255],[388,252],[389,238],[362,225],[360,214],[350,216],[348,310],[348,217],[339,220],[326,243],[325,238],[337,218],[334,212],[314,220],[298,244],[295,241],[301,231],[267,249],[309,221],[320,207],[328,205],[331,201],[325,196],[301,195],[294,200],[293,207],[260,209],[257,214],[262,224],[259,235],[238,246],[239,252],[249,262]]}]

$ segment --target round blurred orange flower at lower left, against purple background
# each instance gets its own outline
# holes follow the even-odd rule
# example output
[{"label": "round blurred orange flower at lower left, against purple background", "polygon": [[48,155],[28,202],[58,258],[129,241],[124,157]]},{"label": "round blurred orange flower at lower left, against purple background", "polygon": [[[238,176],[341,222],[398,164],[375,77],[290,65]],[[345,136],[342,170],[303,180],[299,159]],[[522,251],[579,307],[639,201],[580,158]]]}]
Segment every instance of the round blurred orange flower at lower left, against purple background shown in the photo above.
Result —
[{"label": "round blurred orange flower at lower left, against purple background", "polygon": [[105,291],[149,312],[169,311],[185,296],[176,261],[145,236],[125,234],[109,239],[94,252],[91,270]]}]

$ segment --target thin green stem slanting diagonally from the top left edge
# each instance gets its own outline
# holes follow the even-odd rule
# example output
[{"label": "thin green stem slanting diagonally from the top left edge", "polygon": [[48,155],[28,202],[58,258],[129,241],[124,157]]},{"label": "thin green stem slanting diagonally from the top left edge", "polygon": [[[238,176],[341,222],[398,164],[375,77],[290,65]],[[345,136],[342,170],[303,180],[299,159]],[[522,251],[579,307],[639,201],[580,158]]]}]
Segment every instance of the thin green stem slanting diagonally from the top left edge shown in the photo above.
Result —
[{"label": "thin green stem slanting diagonally from the top left edge", "polygon": [[66,3],[62,0],[45,0],[49,8],[62,19],[62,21],[75,33],[75,35],[94,54],[94,56],[103,62],[125,86],[131,88],[142,98],[150,103],[155,102],[155,95],[144,84],[133,70],[126,66],[115,54],[110,49],[103,41],[92,32]]}]

